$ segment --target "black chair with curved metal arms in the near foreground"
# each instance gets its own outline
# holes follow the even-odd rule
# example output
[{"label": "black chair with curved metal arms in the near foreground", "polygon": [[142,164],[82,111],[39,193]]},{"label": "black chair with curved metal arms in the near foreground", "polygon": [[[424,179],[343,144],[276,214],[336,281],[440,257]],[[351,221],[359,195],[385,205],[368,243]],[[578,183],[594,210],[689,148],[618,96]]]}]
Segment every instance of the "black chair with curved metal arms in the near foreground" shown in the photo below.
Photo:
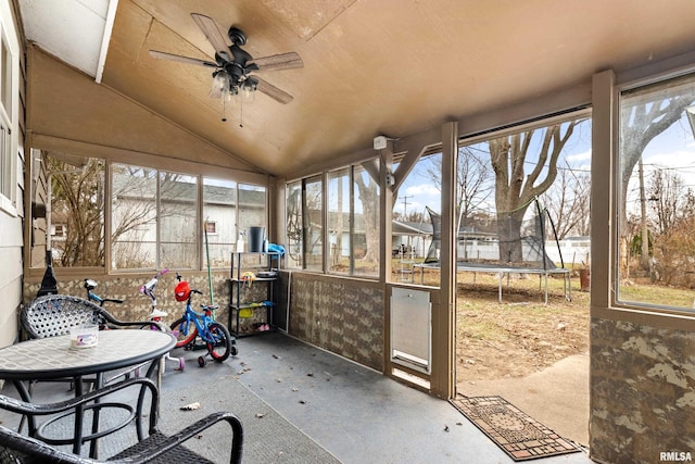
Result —
[{"label": "black chair with curved metal arms in the near foreground", "polygon": [[[243,443],[243,429],[241,422],[231,413],[218,412],[191,424],[173,436],[166,436],[156,428],[156,410],[159,406],[159,394],[152,380],[148,378],[134,378],[118,383],[101,390],[89,392],[83,397],[73,398],[68,401],[53,404],[30,404],[23,401],[0,396],[0,409],[4,409],[23,415],[52,415],[71,411],[78,404],[88,404],[94,400],[100,400],[115,391],[130,386],[149,388],[152,392],[152,401],[149,411],[149,436],[142,435],[141,411],[138,411],[132,421],[136,422],[138,439],[135,446],[127,448],[106,461],[96,461],[78,456],[71,452],[63,451],[53,446],[47,444],[36,438],[27,437],[0,426],[0,464],[31,464],[31,463],[213,463],[203,456],[190,451],[182,443],[190,438],[197,437],[203,430],[219,422],[227,422],[232,430],[230,463],[240,463]],[[106,404],[106,403],[104,403]],[[125,427],[125,423],[122,427]],[[115,429],[113,430],[115,431]],[[102,438],[103,439],[103,438]]]}]

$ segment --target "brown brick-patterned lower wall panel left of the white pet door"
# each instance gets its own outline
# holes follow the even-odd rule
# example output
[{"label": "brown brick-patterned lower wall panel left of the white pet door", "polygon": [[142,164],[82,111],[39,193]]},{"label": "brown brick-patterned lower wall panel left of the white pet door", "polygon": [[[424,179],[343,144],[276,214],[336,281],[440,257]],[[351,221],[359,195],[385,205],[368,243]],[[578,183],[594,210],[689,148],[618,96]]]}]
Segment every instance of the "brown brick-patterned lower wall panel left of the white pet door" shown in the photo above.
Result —
[{"label": "brown brick-patterned lower wall panel left of the white pet door", "polygon": [[290,335],[383,372],[383,285],[304,273],[290,279]]}]

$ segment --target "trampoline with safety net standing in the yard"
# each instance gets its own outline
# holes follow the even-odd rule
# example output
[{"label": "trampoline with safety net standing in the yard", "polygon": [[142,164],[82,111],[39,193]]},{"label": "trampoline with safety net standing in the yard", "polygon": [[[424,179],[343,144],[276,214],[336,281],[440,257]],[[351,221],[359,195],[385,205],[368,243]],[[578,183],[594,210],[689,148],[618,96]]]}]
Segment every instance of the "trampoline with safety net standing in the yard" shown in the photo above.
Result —
[{"label": "trampoline with safety net standing in the yard", "polygon": [[[414,271],[420,272],[420,284],[425,284],[426,269],[441,267],[441,215],[429,208],[427,211],[432,222],[432,242],[425,262],[414,265]],[[559,267],[545,252],[546,237],[551,235],[557,243],[557,236],[547,210],[541,209],[538,199],[529,205],[522,221],[515,220],[513,215],[486,215],[462,221],[458,230],[456,271],[497,274],[500,303],[504,276],[508,278],[510,274],[535,274],[544,279],[545,304],[548,300],[548,277],[561,277],[565,299],[571,301],[571,271],[565,268],[559,247]]]}]

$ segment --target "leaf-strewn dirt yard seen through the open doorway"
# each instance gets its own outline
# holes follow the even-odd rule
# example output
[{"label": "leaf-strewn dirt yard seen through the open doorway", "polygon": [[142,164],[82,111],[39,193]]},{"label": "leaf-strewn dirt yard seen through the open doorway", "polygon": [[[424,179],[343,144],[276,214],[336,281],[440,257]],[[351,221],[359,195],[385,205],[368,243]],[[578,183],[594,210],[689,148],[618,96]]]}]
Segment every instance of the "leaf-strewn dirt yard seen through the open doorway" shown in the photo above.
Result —
[{"label": "leaf-strewn dirt yard seen through the open doorway", "polygon": [[548,279],[544,304],[539,277],[505,277],[498,303],[496,275],[459,273],[456,317],[457,385],[523,377],[589,352],[589,292],[572,276],[572,300],[563,280]]}]

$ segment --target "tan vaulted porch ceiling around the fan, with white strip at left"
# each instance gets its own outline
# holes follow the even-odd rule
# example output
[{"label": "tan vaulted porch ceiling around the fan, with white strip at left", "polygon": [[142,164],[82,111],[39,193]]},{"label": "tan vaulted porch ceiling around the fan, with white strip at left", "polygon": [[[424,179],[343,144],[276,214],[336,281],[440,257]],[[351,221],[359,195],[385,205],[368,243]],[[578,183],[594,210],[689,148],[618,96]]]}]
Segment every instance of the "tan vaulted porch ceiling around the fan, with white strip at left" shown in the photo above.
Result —
[{"label": "tan vaulted porch ceiling around the fan, with white strip at left", "polygon": [[[692,0],[115,2],[18,1],[28,39],[274,175],[695,47]],[[214,61],[191,13],[243,29],[255,58],[299,53],[302,68],[258,73],[293,100],[256,92],[223,122],[211,68],[149,53]]]}]

